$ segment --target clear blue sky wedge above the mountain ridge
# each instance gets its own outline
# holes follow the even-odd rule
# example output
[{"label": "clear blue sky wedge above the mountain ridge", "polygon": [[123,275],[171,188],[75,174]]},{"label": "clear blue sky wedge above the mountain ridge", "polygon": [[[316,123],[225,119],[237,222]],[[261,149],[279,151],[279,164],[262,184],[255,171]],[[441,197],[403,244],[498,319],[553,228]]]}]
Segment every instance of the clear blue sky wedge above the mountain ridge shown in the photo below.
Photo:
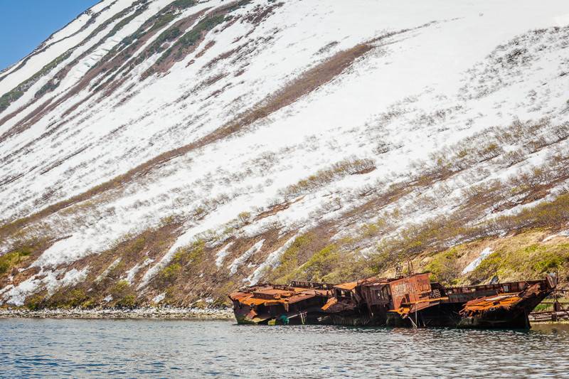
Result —
[{"label": "clear blue sky wedge above the mountain ridge", "polygon": [[0,70],[21,60],[99,1],[0,0]]}]

